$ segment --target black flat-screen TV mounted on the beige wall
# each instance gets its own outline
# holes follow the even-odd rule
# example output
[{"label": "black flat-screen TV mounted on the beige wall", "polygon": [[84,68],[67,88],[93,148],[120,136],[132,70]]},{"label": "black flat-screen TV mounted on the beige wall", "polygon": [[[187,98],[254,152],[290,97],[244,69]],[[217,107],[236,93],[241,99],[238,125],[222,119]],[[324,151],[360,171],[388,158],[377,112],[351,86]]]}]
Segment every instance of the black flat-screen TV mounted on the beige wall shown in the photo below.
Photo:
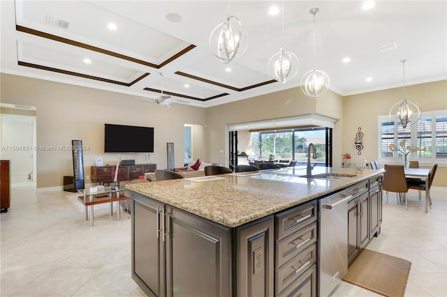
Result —
[{"label": "black flat-screen TV mounted on the beige wall", "polygon": [[104,125],[104,153],[154,153],[154,128]]}]

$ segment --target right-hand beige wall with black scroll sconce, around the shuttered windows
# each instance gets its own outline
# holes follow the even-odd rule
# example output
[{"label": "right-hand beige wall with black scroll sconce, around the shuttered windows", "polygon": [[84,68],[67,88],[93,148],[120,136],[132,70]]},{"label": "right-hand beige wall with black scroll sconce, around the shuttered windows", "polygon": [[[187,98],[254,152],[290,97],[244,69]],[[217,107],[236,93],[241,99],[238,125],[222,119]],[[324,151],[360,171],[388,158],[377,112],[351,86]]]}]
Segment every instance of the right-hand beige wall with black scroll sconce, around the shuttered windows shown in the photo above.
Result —
[{"label": "right-hand beige wall with black scroll sconce, around the shuttered windows", "polygon": [[[418,102],[423,112],[447,109],[446,80],[406,86],[405,94],[409,100]],[[344,97],[343,147],[344,152],[351,153],[354,162],[364,158],[379,160],[377,117],[387,116],[390,108],[395,102],[402,100],[402,96],[403,90],[400,87]],[[354,137],[358,132],[358,127],[362,128],[365,135],[363,137],[365,148],[363,148],[361,156],[357,155],[354,146]],[[425,167],[429,168],[430,165]],[[433,185],[447,187],[447,167],[438,166]]]}]

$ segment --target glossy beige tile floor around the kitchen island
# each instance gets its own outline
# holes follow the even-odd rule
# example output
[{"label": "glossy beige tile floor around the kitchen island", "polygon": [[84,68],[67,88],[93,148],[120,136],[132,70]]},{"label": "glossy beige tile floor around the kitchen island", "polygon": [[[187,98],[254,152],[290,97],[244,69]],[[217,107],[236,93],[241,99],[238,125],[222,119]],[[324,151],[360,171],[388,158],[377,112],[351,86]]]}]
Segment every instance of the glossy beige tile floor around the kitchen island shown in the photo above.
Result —
[{"label": "glossy beige tile floor around the kitchen island", "polygon": [[[130,216],[96,211],[88,227],[67,195],[12,189],[0,217],[0,296],[144,296],[131,279]],[[381,234],[367,246],[412,262],[405,296],[447,296],[447,188],[432,188],[432,199],[426,214],[417,191],[408,211],[390,195]],[[379,295],[343,282],[335,296]]]}]

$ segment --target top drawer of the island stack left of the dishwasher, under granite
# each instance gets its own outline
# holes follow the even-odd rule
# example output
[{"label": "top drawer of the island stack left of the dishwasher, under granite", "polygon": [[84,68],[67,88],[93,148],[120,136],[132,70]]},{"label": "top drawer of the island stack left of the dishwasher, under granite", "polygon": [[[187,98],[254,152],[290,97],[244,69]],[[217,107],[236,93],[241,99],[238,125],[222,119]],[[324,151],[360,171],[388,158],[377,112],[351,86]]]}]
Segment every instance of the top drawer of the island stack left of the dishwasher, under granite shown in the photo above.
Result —
[{"label": "top drawer of the island stack left of the dishwasher, under granite", "polygon": [[275,215],[275,240],[279,241],[316,221],[316,200]]}]

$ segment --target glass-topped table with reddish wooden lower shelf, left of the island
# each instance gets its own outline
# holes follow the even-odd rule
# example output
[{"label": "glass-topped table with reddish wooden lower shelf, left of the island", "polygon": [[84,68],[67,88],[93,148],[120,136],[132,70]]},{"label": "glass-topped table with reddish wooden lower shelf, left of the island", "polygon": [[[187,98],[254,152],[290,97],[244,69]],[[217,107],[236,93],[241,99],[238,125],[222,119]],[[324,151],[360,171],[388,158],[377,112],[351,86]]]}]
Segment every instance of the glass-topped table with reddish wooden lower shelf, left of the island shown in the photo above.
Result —
[{"label": "glass-topped table with reddish wooden lower shelf, left of the island", "polygon": [[[84,220],[90,220],[90,227],[93,227],[93,208],[95,204],[110,203],[109,215],[113,214],[113,202],[126,200],[127,197],[121,192],[126,189],[119,189],[116,187],[104,187],[101,190],[91,191],[91,188],[78,190],[82,196],[78,197],[78,200],[84,204]],[[87,215],[88,208],[90,208],[90,218]],[[117,203],[117,221],[120,220],[119,203]]]}]

